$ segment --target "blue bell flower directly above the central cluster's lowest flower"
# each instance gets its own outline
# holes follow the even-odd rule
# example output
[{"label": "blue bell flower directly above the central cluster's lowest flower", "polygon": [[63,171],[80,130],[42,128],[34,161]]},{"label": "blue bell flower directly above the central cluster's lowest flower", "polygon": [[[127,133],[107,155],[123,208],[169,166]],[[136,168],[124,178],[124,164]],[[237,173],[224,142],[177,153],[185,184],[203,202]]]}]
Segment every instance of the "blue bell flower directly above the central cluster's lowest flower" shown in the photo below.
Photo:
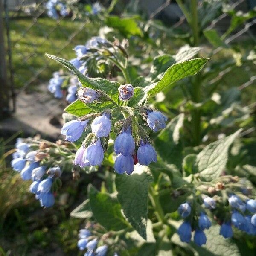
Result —
[{"label": "blue bell flower directly above the central cluster's lowest flower", "polygon": [[134,138],[131,135],[131,129],[128,128],[126,131],[122,131],[116,137],[114,150],[116,154],[123,154],[124,156],[128,156],[129,154],[133,154],[135,149]]}]

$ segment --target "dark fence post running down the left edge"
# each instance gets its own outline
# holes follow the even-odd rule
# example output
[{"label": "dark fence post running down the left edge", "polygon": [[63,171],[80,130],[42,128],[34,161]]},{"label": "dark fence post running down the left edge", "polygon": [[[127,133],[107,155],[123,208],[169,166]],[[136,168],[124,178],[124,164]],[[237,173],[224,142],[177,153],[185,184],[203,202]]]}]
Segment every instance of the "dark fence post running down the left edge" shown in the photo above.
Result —
[{"label": "dark fence post running down the left edge", "polygon": [[0,1],[0,119],[9,114],[9,85],[7,81],[6,54],[4,40],[3,4]]}]

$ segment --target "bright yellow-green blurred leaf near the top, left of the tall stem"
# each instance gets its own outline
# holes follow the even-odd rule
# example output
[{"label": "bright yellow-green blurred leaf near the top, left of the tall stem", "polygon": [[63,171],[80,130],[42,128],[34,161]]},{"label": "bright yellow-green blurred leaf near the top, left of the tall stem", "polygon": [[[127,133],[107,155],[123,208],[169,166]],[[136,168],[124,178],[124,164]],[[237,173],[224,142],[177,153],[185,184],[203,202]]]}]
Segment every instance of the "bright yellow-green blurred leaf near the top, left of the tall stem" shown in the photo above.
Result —
[{"label": "bright yellow-green blurred leaf near the top, left of the tall stem", "polygon": [[124,35],[143,35],[140,27],[137,25],[134,18],[120,18],[118,16],[109,16],[107,17],[106,25],[112,28],[119,29],[119,31]]}]

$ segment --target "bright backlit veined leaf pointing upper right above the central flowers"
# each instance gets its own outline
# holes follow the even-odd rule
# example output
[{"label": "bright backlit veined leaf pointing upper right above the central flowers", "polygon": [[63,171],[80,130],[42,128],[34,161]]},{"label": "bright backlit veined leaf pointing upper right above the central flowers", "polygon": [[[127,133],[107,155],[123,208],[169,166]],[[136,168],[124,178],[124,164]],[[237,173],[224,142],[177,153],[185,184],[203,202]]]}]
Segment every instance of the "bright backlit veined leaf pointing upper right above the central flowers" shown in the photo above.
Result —
[{"label": "bright backlit veined leaf pointing upper right above the central flowers", "polygon": [[186,76],[195,75],[202,67],[204,67],[207,61],[208,58],[196,58],[172,65],[166,70],[166,73],[164,73],[163,77],[156,84],[145,87],[145,89],[147,88],[147,96],[153,97],[167,87],[174,87],[176,81],[183,79]]}]

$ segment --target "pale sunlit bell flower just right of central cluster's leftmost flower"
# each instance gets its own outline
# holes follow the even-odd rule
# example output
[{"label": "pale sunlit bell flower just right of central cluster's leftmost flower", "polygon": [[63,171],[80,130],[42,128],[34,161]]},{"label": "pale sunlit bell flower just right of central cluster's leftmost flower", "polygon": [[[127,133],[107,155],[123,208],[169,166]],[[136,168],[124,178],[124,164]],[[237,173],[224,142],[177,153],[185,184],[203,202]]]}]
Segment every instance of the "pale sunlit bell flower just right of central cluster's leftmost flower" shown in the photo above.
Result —
[{"label": "pale sunlit bell flower just right of central cluster's leftmost flower", "polygon": [[94,118],[91,128],[97,137],[108,137],[111,131],[110,114],[103,113],[102,116]]}]

